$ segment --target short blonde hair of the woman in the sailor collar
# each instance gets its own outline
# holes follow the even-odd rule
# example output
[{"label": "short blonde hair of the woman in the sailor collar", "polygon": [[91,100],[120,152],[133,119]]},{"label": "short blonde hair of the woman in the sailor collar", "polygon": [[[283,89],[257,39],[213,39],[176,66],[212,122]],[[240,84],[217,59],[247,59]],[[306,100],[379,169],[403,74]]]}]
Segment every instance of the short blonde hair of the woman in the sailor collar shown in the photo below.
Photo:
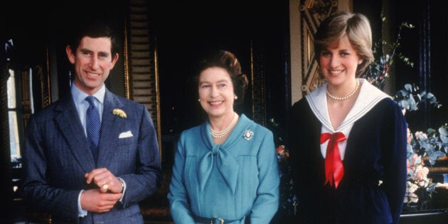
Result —
[{"label": "short blonde hair of the woman in the sailor collar", "polygon": [[368,18],[363,14],[337,11],[322,21],[314,37],[315,58],[318,59],[322,50],[344,36],[347,36],[356,53],[363,58],[356,69],[356,76],[359,76],[373,61],[372,30]]}]

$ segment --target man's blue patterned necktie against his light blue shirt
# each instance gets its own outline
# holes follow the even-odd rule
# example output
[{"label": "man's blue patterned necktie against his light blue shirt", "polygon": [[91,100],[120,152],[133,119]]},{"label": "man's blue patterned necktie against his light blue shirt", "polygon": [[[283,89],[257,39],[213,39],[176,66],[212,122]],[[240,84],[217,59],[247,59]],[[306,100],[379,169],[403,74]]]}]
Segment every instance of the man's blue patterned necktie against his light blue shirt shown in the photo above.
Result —
[{"label": "man's blue patterned necktie against his light blue shirt", "polygon": [[92,150],[93,159],[97,161],[98,156],[98,143],[100,142],[100,129],[101,120],[100,112],[98,112],[97,107],[95,107],[95,97],[88,96],[85,100],[89,102],[89,108],[87,108],[85,116],[85,129],[87,131],[87,143]]}]

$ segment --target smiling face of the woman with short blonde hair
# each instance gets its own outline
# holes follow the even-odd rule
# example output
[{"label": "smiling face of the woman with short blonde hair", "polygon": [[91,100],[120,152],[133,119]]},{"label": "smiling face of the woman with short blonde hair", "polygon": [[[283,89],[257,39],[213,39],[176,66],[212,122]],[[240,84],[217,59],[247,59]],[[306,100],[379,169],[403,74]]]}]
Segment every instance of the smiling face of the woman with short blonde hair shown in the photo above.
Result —
[{"label": "smiling face of the woman with short blonde hair", "polygon": [[347,36],[331,43],[319,56],[321,72],[330,85],[338,85],[356,78],[356,68],[360,62],[362,59],[351,46]]}]

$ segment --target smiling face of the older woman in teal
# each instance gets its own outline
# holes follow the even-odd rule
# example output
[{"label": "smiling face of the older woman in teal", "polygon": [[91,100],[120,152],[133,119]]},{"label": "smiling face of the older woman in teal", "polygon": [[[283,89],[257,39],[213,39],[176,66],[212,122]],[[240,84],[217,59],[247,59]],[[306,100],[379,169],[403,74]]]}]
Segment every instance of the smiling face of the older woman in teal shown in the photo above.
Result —
[{"label": "smiling face of the older woman in teal", "polygon": [[224,68],[211,67],[199,75],[199,100],[208,117],[222,117],[233,113],[235,93],[233,82]]}]

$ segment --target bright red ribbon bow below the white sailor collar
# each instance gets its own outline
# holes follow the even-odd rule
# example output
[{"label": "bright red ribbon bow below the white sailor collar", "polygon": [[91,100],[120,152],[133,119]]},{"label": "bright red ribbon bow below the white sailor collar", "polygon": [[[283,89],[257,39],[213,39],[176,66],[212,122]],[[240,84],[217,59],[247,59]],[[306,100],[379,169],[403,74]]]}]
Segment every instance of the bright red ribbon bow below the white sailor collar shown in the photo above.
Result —
[{"label": "bright red ribbon bow below the white sailor collar", "polygon": [[342,132],[336,132],[334,134],[322,133],[321,134],[321,144],[329,141],[326,146],[326,156],[325,156],[325,183],[330,183],[330,186],[338,188],[339,182],[343,177],[343,164],[341,160],[341,154],[339,154],[338,142],[346,140],[346,136]]}]

